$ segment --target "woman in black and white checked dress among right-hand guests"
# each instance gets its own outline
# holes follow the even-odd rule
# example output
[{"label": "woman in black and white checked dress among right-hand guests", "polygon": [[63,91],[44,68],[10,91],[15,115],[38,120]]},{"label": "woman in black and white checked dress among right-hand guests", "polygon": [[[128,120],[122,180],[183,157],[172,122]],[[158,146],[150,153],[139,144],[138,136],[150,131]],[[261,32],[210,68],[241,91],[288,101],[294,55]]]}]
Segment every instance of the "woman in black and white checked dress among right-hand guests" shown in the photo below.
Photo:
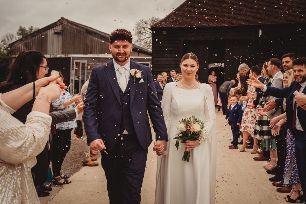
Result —
[{"label": "woman in black and white checked dress among right-hand guests", "polygon": [[[263,77],[266,77],[264,84],[266,84],[267,86],[271,86],[273,78],[272,76],[269,75],[267,71],[267,67],[268,67],[268,62],[263,63],[262,73],[263,73]],[[269,96],[261,91],[258,97],[260,98],[260,100],[259,100],[259,104],[257,105],[257,108],[262,109],[264,108],[265,104],[269,101]],[[261,143],[262,147],[261,147],[261,152],[258,152],[259,156],[253,158],[255,161],[269,160],[270,151],[264,149],[263,147],[264,147],[264,140],[271,139],[271,136],[272,135],[271,135],[271,129],[269,126],[269,118],[267,117],[267,115],[262,116],[262,115],[257,114],[253,137],[256,137],[262,141]],[[271,171],[271,170],[267,170],[267,171]]]}]

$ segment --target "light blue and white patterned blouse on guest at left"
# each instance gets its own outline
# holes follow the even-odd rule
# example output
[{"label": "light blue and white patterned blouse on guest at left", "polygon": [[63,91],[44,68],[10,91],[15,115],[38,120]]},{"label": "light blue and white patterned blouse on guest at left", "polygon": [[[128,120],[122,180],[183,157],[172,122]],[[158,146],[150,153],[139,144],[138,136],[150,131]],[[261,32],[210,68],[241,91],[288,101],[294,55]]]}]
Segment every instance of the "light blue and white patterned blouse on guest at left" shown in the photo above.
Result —
[{"label": "light blue and white patterned blouse on guest at left", "polygon": [[[72,103],[66,108],[64,108],[64,101],[69,99],[72,99],[72,96],[69,94],[68,91],[64,90],[63,92],[61,92],[59,99],[52,101],[52,105],[54,106],[55,111],[74,109],[75,103]],[[76,128],[77,127],[76,120],[77,117],[73,121],[58,123],[56,124],[56,129],[66,130],[66,129]]]}]

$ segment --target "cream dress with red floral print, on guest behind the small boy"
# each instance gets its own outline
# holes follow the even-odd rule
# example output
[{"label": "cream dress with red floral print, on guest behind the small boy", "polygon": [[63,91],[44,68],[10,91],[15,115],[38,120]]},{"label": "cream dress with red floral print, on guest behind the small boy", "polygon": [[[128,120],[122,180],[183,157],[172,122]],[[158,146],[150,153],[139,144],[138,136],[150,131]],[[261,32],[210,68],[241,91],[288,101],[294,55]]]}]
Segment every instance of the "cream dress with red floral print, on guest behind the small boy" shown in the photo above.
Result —
[{"label": "cream dress with red floral print, on guest behind the small boy", "polygon": [[248,100],[247,107],[243,112],[240,131],[241,132],[246,131],[250,135],[253,135],[255,129],[256,115],[257,115],[255,107],[252,108],[253,101],[256,99],[255,87],[251,86],[248,92],[250,92],[251,98]]}]

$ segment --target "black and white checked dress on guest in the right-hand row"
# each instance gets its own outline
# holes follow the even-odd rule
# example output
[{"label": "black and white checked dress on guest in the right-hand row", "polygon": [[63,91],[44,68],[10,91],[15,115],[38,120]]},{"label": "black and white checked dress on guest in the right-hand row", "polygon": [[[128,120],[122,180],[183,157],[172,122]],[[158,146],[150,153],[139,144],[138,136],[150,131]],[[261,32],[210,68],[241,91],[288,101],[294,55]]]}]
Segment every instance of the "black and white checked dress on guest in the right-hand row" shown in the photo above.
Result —
[{"label": "black and white checked dress on guest in the right-hand row", "polygon": [[[264,82],[265,85],[271,86],[273,78],[266,79]],[[261,98],[258,104],[258,108],[263,108],[265,103],[269,101],[269,95],[265,94],[264,92],[260,92]],[[252,137],[257,139],[270,139],[271,138],[271,128],[269,126],[270,120],[268,116],[256,116],[255,122],[255,130]]]}]

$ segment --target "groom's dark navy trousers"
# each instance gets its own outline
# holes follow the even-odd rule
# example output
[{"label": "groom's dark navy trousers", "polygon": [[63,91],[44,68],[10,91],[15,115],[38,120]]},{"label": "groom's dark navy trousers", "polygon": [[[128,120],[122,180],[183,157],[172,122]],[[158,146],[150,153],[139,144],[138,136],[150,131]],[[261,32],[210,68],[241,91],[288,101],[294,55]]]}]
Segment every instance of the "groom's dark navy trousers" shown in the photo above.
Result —
[{"label": "groom's dark navy trousers", "polygon": [[[101,151],[101,164],[107,180],[110,204],[140,203],[141,187],[147,161],[136,135],[119,140],[114,149]],[[107,147],[106,147],[107,148]]]}]

